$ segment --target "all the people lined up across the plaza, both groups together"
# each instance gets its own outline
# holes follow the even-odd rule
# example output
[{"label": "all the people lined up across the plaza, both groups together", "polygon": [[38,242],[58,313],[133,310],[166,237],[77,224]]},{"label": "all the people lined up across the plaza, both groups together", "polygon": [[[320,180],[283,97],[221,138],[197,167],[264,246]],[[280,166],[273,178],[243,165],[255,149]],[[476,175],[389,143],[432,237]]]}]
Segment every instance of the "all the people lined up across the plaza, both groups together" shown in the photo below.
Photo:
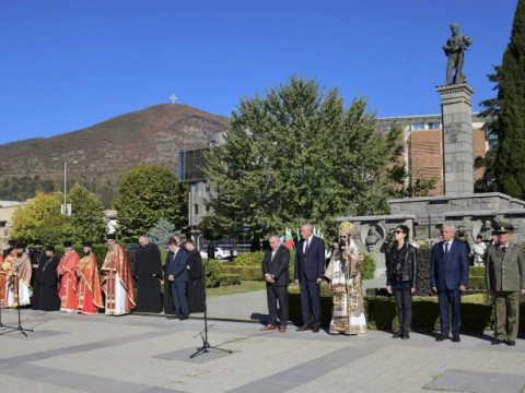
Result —
[{"label": "all the people lined up across the plaza, both groups together", "polygon": [[[301,226],[295,245],[294,283],[300,288],[302,323],[298,332],[319,332],[322,325],[320,284],[328,282],[332,294],[330,334],[366,333],[362,266],[364,254],[352,237],[354,226],[343,222],[331,258],[325,262],[325,245],[314,236],[308,223]],[[483,250],[479,264],[485,264],[487,290],[495,308],[494,345],[515,345],[518,329],[520,297],[525,294],[525,258],[521,246],[512,243],[514,227],[498,223],[490,241],[477,237],[475,246]],[[460,342],[462,294],[468,286],[469,251],[456,236],[452,223],[441,227],[442,241],[435,243],[430,259],[430,287],[438,295],[441,332],[436,341]],[[399,330],[394,338],[410,338],[412,296],[418,276],[418,250],[409,241],[410,229],[397,226],[394,242],[386,252],[386,289],[397,305]],[[261,261],[268,301],[268,323],[261,331],[288,327],[288,286],[290,250],[279,235],[268,239],[269,248]],[[83,254],[63,242],[63,255],[55,255],[55,247],[43,247],[35,240],[31,251],[22,242],[9,242],[0,255],[0,307],[31,305],[35,310],[121,315],[131,310],[160,313],[168,319],[188,319],[191,312],[206,311],[206,285],[200,252],[191,239],[183,243],[179,235],[167,242],[168,253],[162,266],[159,247],[145,236],[131,269],[128,253],[115,235],[106,236],[107,253],[98,273],[92,243],[83,243]],[[476,251],[478,252],[478,251]],[[482,262],[481,262],[482,261]],[[476,263],[478,264],[478,263]],[[102,279],[101,279],[102,278]],[[164,293],[161,283],[164,282]],[[137,297],[135,287],[137,287]],[[452,317],[452,318],[450,318]],[[452,337],[451,334],[452,333]]]}]

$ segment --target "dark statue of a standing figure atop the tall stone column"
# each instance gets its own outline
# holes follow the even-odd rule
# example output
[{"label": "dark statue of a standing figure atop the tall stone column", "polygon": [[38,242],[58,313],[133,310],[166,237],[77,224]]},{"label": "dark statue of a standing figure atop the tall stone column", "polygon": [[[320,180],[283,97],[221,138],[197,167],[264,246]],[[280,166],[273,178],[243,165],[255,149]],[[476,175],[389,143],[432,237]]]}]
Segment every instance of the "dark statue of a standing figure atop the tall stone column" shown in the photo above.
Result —
[{"label": "dark statue of a standing figure atop the tall stone column", "polygon": [[[467,82],[467,76],[463,72],[463,62],[465,59],[465,50],[472,44],[470,37],[459,33],[457,23],[451,24],[451,37],[443,46],[448,61],[446,63],[446,84],[460,84]],[[454,72],[454,75],[453,75]]]}]

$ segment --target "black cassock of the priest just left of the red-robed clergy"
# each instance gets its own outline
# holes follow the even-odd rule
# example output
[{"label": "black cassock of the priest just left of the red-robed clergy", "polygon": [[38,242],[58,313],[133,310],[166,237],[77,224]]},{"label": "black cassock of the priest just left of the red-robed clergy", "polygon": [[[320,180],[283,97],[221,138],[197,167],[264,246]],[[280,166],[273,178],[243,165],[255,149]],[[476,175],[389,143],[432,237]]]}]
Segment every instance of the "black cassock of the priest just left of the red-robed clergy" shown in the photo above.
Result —
[{"label": "black cassock of the priest just left of the red-robed clergy", "polygon": [[40,261],[33,282],[33,310],[57,311],[60,308],[58,297],[58,258],[46,257]]}]

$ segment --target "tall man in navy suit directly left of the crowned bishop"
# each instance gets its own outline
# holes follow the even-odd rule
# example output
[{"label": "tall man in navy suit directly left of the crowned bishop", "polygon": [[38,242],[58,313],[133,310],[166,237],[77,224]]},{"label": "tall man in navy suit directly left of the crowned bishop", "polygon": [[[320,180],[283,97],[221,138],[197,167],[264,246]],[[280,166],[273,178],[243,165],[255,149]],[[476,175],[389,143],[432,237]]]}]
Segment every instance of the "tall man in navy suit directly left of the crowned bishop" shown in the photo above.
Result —
[{"label": "tall man in navy suit directly left of the crowned bishop", "polygon": [[302,240],[296,246],[294,278],[301,289],[303,315],[303,325],[298,329],[298,332],[312,330],[317,333],[320,327],[319,284],[325,273],[325,245],[313,233],[312,224],[301,226]]}]

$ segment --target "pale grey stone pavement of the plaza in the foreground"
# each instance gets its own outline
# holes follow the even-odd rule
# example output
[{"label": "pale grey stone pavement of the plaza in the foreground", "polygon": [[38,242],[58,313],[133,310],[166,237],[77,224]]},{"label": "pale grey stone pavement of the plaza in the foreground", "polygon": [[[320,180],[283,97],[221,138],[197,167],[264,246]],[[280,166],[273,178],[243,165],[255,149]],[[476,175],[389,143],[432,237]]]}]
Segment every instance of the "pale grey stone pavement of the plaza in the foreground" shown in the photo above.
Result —
[{"label": "pale grey stone pavement of the plaza in the foreground", "polygon": [[[259,332],[264,291],[210,298],[205,323],[159,315],[105,317],[22,310],[0,329],[0,392],[523,392],[525,341],[490,336],[438,343],[429,333],[342,336]],[[16,310],[2,310],[16,326]],[[250,323],[247,323],[250,321]]]}]

